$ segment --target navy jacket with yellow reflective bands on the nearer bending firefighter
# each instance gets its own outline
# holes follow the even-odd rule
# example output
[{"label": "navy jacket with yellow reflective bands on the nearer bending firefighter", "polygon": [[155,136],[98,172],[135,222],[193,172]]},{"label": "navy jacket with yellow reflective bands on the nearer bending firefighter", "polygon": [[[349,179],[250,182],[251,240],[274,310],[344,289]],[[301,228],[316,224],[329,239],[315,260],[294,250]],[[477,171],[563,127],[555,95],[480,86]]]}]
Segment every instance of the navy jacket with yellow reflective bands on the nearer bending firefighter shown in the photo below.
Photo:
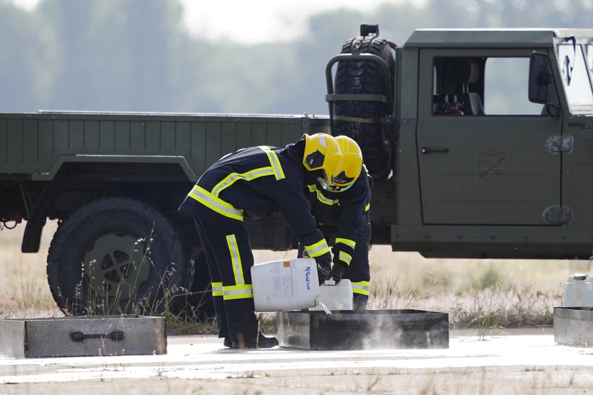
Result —
[{"label": "navy jacket with yellow reflective bands on the nearer bending firefighter", "polygon": [[305,140],[285,148],[250,147],[219,159],[179,207],[199,221],[237,224],[280,212],[298,242],[315,258],[329,253],[303,194]]}]

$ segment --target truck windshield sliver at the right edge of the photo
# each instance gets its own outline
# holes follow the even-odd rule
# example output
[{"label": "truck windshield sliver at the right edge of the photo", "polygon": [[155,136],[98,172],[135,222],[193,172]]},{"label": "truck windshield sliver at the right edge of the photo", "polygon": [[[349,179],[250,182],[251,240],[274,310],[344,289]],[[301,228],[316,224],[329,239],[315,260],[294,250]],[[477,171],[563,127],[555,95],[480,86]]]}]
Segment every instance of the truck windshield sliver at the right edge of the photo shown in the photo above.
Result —
[{"label": "truck windshield sliver at the right edge of the photo", "polygon": [[[573,44],[561,44],[557,47],[562,84],[571,113],[591,111],[593,107],[591,82],[589,82],[589,73],[581,48],[580,45]],[[589,54],[588,59],[591,59]]]}]

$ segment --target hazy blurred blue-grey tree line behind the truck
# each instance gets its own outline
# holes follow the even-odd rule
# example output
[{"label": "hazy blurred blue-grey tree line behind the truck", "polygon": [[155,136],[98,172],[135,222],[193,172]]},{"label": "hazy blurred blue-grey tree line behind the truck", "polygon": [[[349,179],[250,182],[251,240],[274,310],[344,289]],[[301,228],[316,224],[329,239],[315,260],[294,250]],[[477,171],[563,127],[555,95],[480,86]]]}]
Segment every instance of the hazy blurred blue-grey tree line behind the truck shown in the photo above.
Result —
[{"label": "hazy blurred blue-grey tree line behind the truck", "polygon": [[427,0],[314,15],[286,43],[192,36],[177,0],[0,0],[0,111],[327,114],[327,60],[361,23],[403,45],[415,28],[591,27],[590,0]]}]

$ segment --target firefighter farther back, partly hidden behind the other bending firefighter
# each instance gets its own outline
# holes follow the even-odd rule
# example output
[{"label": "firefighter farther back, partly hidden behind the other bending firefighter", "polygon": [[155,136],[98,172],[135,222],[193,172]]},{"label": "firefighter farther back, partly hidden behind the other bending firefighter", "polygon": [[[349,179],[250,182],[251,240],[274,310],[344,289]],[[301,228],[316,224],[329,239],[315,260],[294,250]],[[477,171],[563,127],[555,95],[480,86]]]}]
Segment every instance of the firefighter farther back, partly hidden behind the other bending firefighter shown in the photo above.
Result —
[{"label": "firefighter farther back, partly hidden behind the other bending firefighter", "polygon": [[[328,278],[347,278],[352,282],[354,310],[366,309],[369,297],[369,242],[371,239],[371,185],[362,163],[358,144],[346,136],[337,136],[345,154],[344,173],[334,185],[324,187],[323,179],[307,178],[305,195],[311,203],[311,214],[318,222],[330,246],[333,245],[334,266]],[[299,245],[298,257],[306,256]]]}]

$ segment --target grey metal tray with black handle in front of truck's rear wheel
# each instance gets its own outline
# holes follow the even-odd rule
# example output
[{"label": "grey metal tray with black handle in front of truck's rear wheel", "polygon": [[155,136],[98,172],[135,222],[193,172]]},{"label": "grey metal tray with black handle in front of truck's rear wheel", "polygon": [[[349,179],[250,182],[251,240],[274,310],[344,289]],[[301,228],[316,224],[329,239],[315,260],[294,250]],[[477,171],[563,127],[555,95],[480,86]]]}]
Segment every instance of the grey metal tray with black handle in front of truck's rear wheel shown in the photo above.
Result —
[{"label": "grey metal tray with black handle in front of truck's rear wheel", "polygon": [[138,315],[0,320],[0,355],[80,357],[167,354],[164,317]]}]

